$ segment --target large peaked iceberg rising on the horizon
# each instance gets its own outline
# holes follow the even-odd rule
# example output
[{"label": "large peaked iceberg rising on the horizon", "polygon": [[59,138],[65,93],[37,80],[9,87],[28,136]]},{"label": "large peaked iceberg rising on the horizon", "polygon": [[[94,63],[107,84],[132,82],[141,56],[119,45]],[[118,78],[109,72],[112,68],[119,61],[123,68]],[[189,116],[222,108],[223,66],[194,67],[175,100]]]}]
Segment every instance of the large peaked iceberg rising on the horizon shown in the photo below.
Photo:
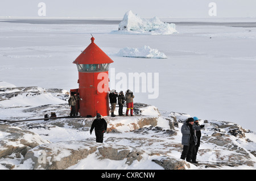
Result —
[{"label": "large peaked iceberg rising on the horizon", "polygon": [[159,18],[144,19],[127,11],[119,23],[118,31],[113,33],[140,33],[146,35],[170,35],[177,33],[174,23],[164,23]]}]

